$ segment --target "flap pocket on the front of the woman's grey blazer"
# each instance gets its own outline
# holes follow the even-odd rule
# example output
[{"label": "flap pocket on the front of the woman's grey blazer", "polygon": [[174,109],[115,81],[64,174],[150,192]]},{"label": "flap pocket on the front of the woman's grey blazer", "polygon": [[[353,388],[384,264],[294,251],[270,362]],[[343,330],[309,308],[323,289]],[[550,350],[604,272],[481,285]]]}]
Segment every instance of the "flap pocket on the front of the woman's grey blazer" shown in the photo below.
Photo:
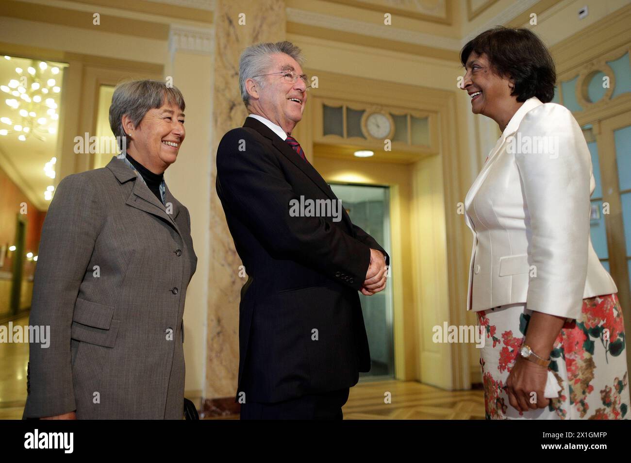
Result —
[{"label": "flap pocket on the front of the woman's grey blazer", "polygon": [[112,348],[119,320],[112,320],[114,307],[78,298],[74,306],[71,338]]}]

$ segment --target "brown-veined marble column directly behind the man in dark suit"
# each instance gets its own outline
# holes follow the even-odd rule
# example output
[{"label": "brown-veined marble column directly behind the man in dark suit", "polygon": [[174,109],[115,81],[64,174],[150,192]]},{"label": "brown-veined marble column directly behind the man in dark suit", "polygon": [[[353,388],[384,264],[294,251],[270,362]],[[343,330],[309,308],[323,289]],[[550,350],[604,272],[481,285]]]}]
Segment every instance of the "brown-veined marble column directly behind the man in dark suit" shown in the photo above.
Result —
[{"label": "brown-veined marble column directly behind the man in dark suit", "polygon": [[[217,0],[211,156],[206,399],[234,397],[239,372],[239,300],[247,281],[216,195],[217,146],[247,116],[239,91],[239,56],[257,42],[285,40],[283,0]],[[242,24],[245,20],[245,24]]]}]

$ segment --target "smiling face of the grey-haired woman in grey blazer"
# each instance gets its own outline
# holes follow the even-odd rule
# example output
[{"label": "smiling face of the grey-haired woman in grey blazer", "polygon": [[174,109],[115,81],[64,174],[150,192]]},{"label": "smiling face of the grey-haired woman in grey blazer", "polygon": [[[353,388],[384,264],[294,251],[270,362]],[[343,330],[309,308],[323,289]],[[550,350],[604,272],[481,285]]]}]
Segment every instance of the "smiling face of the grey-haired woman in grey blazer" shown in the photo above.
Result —
[{"label": "smiling face of the grey-haired woman in grey blazer", "polygon": [[148,110],[136,127],[124,115],[123,127],[131,136],[127,151],[153,173],[162,173],[175,162],[186,135],[184,113],[168,102]]}]

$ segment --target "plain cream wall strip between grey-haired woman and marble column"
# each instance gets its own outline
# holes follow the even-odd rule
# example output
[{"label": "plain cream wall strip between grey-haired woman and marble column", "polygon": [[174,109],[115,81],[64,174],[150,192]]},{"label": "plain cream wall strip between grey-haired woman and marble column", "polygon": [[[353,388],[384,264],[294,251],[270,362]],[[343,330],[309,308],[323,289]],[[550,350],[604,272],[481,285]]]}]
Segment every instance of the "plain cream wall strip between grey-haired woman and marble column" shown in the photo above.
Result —
[{"label": "plain cream wall strip between grey-haired woman and marble column", "polygon": [[210,156],[213,127],[210,124],[213,100],[212,54],[177,50],[167,76],[186,98],[186,138],[175,165],[165,175],[169,188],[191,214],[191,237],[198,267],[186,295],[184,312],[184,355],[186,358],[186,394],[203,397],[206,375],[207,310],[209,295],[210,196],[213,157]]}]

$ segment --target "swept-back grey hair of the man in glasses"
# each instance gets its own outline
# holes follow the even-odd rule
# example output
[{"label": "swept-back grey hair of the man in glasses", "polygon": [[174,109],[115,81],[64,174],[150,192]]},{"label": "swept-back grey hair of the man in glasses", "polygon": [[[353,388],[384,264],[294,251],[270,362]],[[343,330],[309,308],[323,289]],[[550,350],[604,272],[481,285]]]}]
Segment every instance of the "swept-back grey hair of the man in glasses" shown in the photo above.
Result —
[{"label": "swept-back grey hair of the man in glasses", "polygon": [[254,79],[261,88],[264,86],[263,79],[254,78],[261,74],[268,74],[270,65],[270,55],[286,54],[295,59],[302,66],[305,61],[302,51],[292,42],[265,42],[262,44],[250,45],[243,51],[239,58],[239,88],[241,90],[241,98],[247,108],[250,103],[250,95],[245,88],[247,79]]}]

